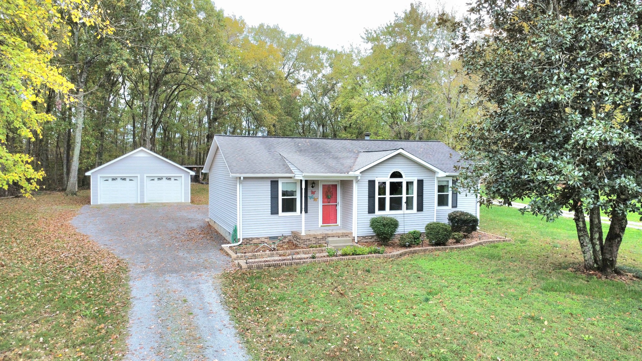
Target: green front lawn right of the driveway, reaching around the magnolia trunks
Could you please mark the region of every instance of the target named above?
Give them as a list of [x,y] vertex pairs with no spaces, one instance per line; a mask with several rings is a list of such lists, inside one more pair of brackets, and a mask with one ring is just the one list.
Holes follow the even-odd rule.
[[[261,360],[640,360],[642,282],[586,277],[573,220],[482,208],[514,242],[223,276]],[[621,263],[642,266],[628,229]]]

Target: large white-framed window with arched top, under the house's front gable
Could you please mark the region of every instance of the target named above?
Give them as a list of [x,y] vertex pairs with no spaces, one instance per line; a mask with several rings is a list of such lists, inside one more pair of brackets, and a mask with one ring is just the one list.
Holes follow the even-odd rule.
[[388,178],[377,178],[376,213],[404,213],[415,211],[417,179],[406,178],[399,170]]

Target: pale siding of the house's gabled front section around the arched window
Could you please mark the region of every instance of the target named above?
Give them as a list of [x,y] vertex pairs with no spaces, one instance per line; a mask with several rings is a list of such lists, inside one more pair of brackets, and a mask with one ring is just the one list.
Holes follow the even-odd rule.
[[[379,216],[368,213],[368,180],[388,178],[390,173],[394,170],[401,170],[406,178],[424,180],[424,211],[385,215],[399,220],[399,229],[397,229],[397,233],[408,233],[408,231],[413,231],[415,229],[423,232],[426,224],[435,220],[435,172],[421,164],[415,163],[404,155],[399,154],[361,172],[361,179],[357,184],[358,236],[369,236],[374,234],[372,233],[372,229],[370,229],[370,218]],[[417,193],[417,188],[414,189],[414,192],[415,194]],[[414,202],[416,205],[417,200],[415,199]]]

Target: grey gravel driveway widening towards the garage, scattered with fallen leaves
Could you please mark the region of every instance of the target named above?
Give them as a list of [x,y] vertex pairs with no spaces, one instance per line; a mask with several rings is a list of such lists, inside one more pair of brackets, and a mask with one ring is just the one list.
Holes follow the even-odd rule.
[[214,275],[227,243],[207,206],[84,206],[72,224],[130,265],[126,360],[248,360]]

